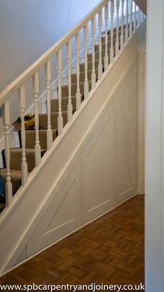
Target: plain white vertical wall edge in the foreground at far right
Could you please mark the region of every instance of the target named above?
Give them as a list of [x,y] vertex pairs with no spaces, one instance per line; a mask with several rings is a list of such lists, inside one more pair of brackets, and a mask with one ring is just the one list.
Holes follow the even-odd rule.
[[164,291],[164,1],[147,5],[145,291]]

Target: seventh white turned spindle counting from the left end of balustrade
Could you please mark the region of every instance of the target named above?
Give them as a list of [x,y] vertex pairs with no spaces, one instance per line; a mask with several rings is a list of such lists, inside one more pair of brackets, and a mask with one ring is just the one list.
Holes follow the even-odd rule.
[[77,79],[77,91],[76,91],[76,110],[81,106],[81,92],[80,92],[80,66],[79,66],[79,51],[80,51],[80,32],[76,33],[76,79]]

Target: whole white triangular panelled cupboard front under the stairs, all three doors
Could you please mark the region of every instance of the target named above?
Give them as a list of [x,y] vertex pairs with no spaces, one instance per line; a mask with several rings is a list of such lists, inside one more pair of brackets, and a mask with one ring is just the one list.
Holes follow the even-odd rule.
[[51,203],[27,244],[27,256],[136,194],[136,92],[135,62],[63,184],[58,191],[52,188]]

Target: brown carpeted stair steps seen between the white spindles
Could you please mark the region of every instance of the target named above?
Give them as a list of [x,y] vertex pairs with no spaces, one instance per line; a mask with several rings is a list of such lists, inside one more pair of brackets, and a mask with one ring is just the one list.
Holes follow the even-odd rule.
[[[124,26],[125,30],[125,26]],[[110,31],[108,31],[109,35]],[[116,30],[113,30],[113,43],[116,41]],[[105,56],[105,37],[102,36],[102,52],[101,52],[101,61],[103,64],[104,70],[104,56]],[[110,41],[108,41],[108,55],[110,55]],[[115,45],[113,47],[115,52]],[[95,74],[96,80],[98,79],[98,65],[99,65],[99,45],[95,45]],[[79,87],[81,92],[81,102],[84,99],[84,81],[85,81],[85,64],[81,63],[80,75],[79,75]],[[92,54],[88,54],[88,84],[89,91],[91,90],[91,78],[92,78]],[[72,100],[72,114],[76,111],[76,74],[71,75],[72,87],[71,87],[71,100]],[[67,124],[67,104],[68,104],[68,86],[61,86],[62,92],[62,116],[63,116],[63,127]],[[41,147],[41,157],[47,151],[47,114],[39,114],[39,139]],[[51,99],[51,129],[53,133],[53,141],[58,135],[58,99]],[[19,132],[20,143],[22,141],[21,131]],[[3,151],[3,161],[5,161],[5,150]],[[21,162],[22,162],[22,148],[10,148],[10,177],[13,183],[13,194],[17,192],[21,183]],[[28,165],[28,175],[35,167],[35,130],[26,130],[26,162]],[[6,181],[6,168],[1,169],[1,176],[3,182]],[[1,210],[4,205],[1,205]]]

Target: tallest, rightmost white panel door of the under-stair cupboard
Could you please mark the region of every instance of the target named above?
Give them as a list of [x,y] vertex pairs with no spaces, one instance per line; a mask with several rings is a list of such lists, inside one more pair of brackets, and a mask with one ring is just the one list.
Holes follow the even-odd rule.
[[136,194],[137,68],[133,66],[115,98],[115,203]]

